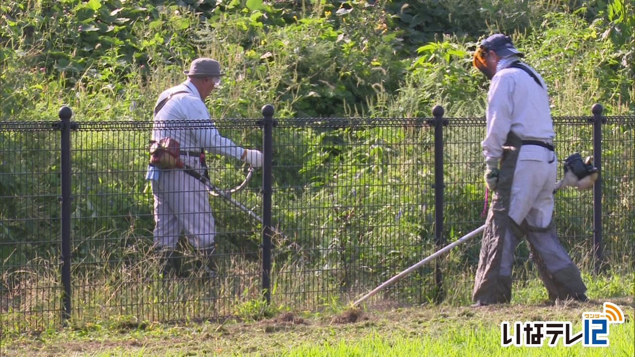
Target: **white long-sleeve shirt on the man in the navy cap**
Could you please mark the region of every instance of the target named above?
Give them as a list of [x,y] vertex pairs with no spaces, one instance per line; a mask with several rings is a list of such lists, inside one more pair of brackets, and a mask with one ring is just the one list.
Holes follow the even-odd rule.
[[481,142],[485,161],[502,156],[510,130],[521,140],[553,142],[547,85],[540,74],[533,72],[542,87],[518,68],[502,69],[492,77],[487,93],[486,136]]

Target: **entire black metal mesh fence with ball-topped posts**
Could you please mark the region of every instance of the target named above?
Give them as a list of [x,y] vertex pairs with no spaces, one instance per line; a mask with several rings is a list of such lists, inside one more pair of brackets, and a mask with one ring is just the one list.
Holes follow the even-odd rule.
[[[268,300],[319,309],[358,297],[483,224],[482,118],[222,120],[264,167],[232,199],[211,198],[217,273],[180,246],[184,273],[161,273],[145,180],[152,123],[0,123],[0,327],[67,319],[180,321],[248,314]],[[563,244],[582,269],[634,267],[635,117],[554,118],[556,151],[594,154],[594,191],[556,194]],[[184,125],[185,128],[185,125]],[[601,153],[601,155],[600,155]],[[271,164],[269,164],[271,163]],[[601,165],[600,165],[601,164]],[[211,183],[246,166],[208,154]],[[185,238],[185,237],[184,237]],[[370,300],[467,302],[478,239]],[[534,274],[519,247],[517,276]]]

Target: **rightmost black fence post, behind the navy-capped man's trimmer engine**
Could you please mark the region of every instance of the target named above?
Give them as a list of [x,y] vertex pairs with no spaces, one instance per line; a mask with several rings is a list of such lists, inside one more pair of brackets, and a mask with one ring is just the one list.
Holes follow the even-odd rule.
[[602,116],[602,105],[596,103],[591,107],[593,118],[593,166],[598,168],[599,177],[593,185],[593,270],[600,273],[602,267],[602,124],[606,118]]

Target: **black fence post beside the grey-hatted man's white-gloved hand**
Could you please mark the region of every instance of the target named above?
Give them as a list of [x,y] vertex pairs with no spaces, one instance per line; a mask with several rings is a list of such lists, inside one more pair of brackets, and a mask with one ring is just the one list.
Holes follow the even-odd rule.
[[272,165],[272,128],[274,106],[265,104],[262,107],[262,291],[267,304],[271,302],[271,165]]

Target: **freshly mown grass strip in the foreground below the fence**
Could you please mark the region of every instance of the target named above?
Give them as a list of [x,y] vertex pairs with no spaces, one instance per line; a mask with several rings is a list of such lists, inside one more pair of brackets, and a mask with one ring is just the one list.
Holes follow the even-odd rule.
[[[584,274],[591,302],[545,303],[536,278],[518,281],[512,304],[474,309],[444,302],[398,306],[375,301],[352,310],[345,300],[319,312],[245,303],[225,321],[140,321],[133,316],[72,320],[66,328],[4,333],[3,356],[632,356],[633,274]],[[471,286],[468,286],[468,288]],[[277,299],[276,295],[273,297]],[[501,321],[572,321],[618,304],[624,325],[611,325],[610,347],[501,347]],[[273,315],[272,315],[273,314]],[[629,354],[629,351],[631,354]]]

